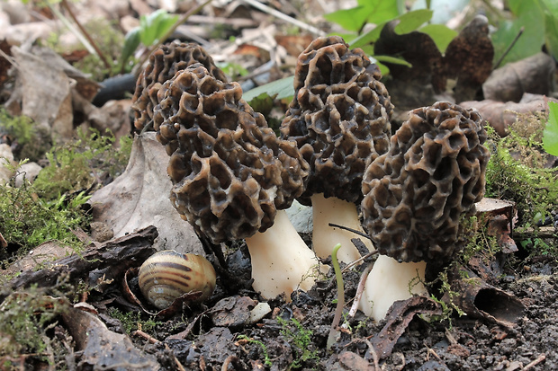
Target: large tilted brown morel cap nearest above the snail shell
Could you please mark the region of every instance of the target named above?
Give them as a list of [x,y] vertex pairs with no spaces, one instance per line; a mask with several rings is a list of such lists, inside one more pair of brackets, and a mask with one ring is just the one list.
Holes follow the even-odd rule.
[[237,83],[197,64],[162,84],[154,110],[170,155],[171,201],[212,243],[266,231],[308,176],[296,144],[279,139],[241,96]]

